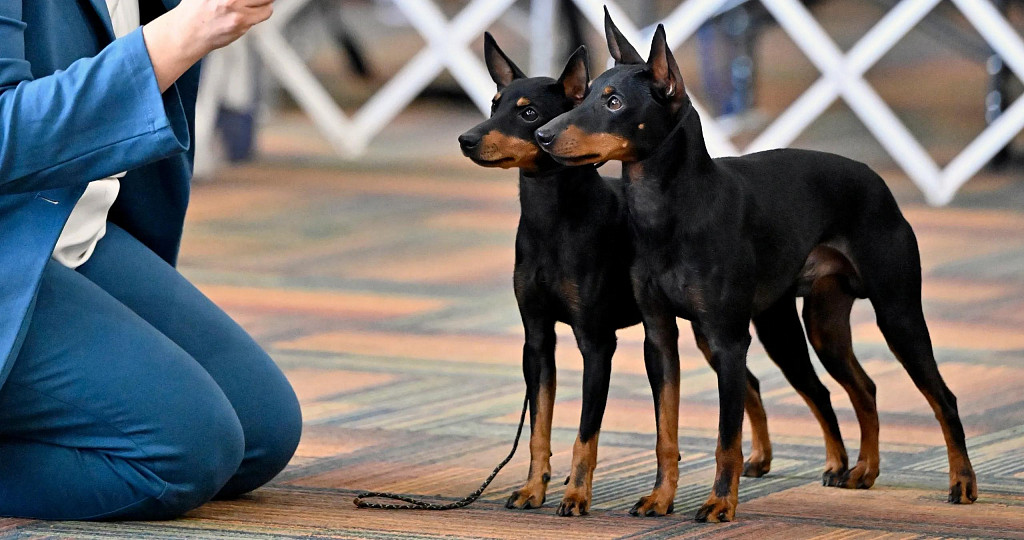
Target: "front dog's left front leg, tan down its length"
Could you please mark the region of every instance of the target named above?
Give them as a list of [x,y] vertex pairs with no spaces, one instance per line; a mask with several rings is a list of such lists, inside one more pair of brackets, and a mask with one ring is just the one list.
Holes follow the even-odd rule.
[[675,509],[679,484],[679,327],[669,311],[645,313],[643,327],[644,366],[657,421],[657,476],[650,495],[641,497],[630,513],[665,515]]

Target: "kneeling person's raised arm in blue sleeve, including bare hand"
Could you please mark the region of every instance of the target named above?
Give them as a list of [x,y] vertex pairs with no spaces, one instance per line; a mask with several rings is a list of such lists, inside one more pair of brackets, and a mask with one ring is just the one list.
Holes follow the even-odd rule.
[[174,81],[269,16],[270,0],[182,0],[96,56],[33,79],[23,0],[0,0],[0,195],[80,184],[188,149]]

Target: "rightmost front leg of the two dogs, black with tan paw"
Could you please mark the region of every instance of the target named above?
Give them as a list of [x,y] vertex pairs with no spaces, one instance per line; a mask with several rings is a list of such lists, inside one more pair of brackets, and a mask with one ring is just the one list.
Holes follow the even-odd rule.
[[718,449],[711,496],[697,510],[698,522],[731,522],[736,515],[739,475],[743,470],[742,426],[746,389],[750,320],[707,328],[708,344],[718,364]]

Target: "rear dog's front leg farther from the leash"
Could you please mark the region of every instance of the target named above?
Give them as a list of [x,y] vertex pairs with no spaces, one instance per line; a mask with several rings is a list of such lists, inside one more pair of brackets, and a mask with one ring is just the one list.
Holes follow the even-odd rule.
[[608,402],[611,357],[615,352],[615,331],[575,329],[583,354],[583,412],[580,432],[572,445],[572,469],[558,515],[585,515],[590,510],[594,469],[597,467],[597,437]]

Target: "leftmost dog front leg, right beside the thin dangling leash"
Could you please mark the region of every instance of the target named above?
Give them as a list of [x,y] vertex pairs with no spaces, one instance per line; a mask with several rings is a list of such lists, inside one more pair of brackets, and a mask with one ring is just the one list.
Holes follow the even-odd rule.
[[540,508],[551,480],[551,415],[555,405],[555,323],[544,317],[523,315],[526,342],[522,347],[522,374],[529,400],[529,474],[526,484],[512,492],[507,508]]

